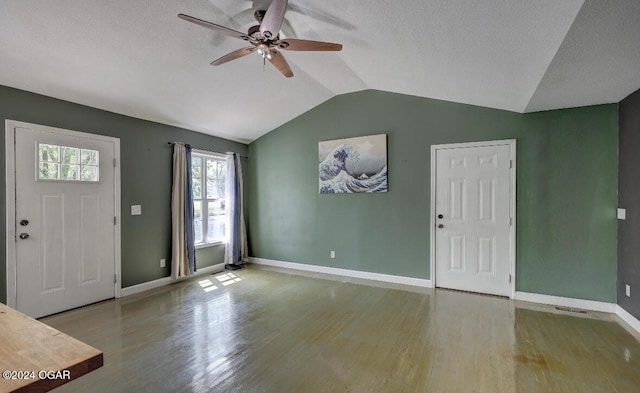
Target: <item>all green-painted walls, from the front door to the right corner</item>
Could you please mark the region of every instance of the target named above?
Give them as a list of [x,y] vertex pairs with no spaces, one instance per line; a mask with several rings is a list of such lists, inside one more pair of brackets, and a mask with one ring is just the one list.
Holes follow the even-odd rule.
[[[123,287],[169,275],[159,267],[170,259],[167,141],[247,154],[239,143],[2,86],[0,118],[120,138]],[[378,133],[388,134],[389,192],[319,195],[318,141]],[[614,302],[616,105],[521,115],[380,91],[335,97],[249,146],[251,254],[429,278],[430,146],[510,138],[518,141],[517,289]],[[0,138],[2,184],[4,151]],[[0,201],[4,238],[4,188]],[[133,204],[142,216],[129,214]],[[222,255],[199,250],[198,264]],[[5,272],[3,258],[3,302]]]

